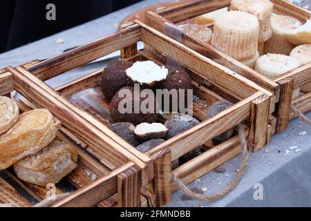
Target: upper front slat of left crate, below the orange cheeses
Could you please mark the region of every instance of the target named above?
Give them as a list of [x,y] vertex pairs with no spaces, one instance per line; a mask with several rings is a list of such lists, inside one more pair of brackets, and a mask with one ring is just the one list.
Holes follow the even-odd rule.
[[88,186],[84,186],[82,189],[78,189],[74,193],[66,196],[66,198],[59,200],[53,204],[52,207],[82,207],[97,205],[117,193],[117,175],[131,168],[131,166],[134,166],[134,164],[129,162],[124,166],[111,171],[108,175],[95,180]]

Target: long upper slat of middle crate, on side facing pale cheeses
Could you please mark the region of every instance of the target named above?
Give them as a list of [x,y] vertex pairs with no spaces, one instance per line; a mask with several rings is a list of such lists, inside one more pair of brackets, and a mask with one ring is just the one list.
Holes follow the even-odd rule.
[[[140,23],[139,21],[137,22]],[[200,77],[207,79],[215,86],[218,86],[218,88],[230,93],[233,97],[244,99],[258,90],[272,96],[272,93],[269,91],[257,86],[245,77],[237,75],[232,70],[211,61],[211,59],[198,54],[198,52],[183,46],[142,23],[140,23],[140,26],[142,26],[142,41],[153,48],[161,50],[168,57],[180,62],[183,66],[194,70]]]

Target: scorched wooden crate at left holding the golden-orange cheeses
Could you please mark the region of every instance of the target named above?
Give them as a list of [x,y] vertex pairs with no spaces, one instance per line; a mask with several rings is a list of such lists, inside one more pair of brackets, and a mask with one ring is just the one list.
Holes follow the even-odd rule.
[[[19,92],[17,85],[23,82],[23,79],[13,77],[4,69],[1,72],[3,74],[0,75],[0,95],[10,96],[13,90]],[[37,92],[33,90],[32,95],[37,95]],[[37,108],[24,97],[17,99],[17,104],[21,112]],[[140,195],[141,171],[133,162],[128,160],[116,169],[109,169],[87,153],[84,150],[86,144],[82,144],[66,128],[62,127],[59,130],[57,138],[72,145],[79,157],[77,168],[62,179],[60,182],[62,184],[56,184],[57,195],[68,191],[70,194],[51,206],[147,206],[147,198]],[[49,189],[19,180],[12,167],[1,172],[3,172],[0,176],[1,204],[33,206],[35,202],[46,199]],[[127,188],[131,191],[124,191]]]

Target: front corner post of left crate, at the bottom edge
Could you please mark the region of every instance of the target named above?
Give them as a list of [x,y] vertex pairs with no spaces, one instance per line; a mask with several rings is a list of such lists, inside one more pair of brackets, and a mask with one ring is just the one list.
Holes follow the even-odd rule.
[[141,171],[138,166],[117,175],[117,206],[140,207]]

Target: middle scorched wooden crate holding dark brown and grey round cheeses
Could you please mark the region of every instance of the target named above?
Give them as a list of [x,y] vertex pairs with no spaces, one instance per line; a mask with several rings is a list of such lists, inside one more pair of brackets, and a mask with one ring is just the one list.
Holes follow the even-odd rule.
[[[138,41],[144,42],[144,45],[149,46],[149,48],[160,50],[162,55],[172,57],[184,66],[193,79],[194,94],[200,98],[199,101],[212,104],[219,100],[229,99],[235,104],[207,120],[204,112],[206,108],[199,101],[196,101],[194,103],[194,116],[201,121],[200,124],[143,154],[113,133],[109,129],[109,125],[103,123],[106,122],[104,115],[99,116],[95,114],[96,111],[90,109],[82,110],[81,106],[68,102],[70,96],[88,88],[98,87],[103,68],[54,89],[44,83],[44,80],[88,64],[117,50],[121,50],[122,59],[132,61],[149,59],[157,63],[163,62],[163,56],[151,57],[150,54],[138,50]],[[171,192],[178,190],[176,184],[171,183],[171,173],[177,175],[185,184],[189,184],[189,182],[241,153],[238,136],[232,137],[218,146],[210,146],[209,141],[216,135],[220,135],[220,133],[247,120],[248,128],[245,132],[247,133],[249,148],[255,151],[264,146],[272,134],[273,127],[268,124],[272,93],[139,21],[128,24],[128,27],[124,27],[120,32],[46,61],[30,64],[26,68],[18,66],[7,69],[12,73],[14,79],[21,78],[27,81],[32,85],[31,88],[39,90],[45,99],[38,99],[37,96],[29,92],[26,84],[17,81],[16,86],[19,93],[30,99],[33,104],[52,111],[55,116],[62,120],[64,128],[82,142],[89,144],[87,150],[106,166],[111,163],[111,160],[106,162],[109,159],[104,157],[106,147],[100,146],[101,142],[95,143],[95,140],[90,140],[89,134],[92,132],[90,128],[96,128],[101,135],[113,140],[114,145],[118,144],[123,148],[123,151],[116,148],[113,151],[120,151],[126,156],[131,153],[133,157],[131,156],[129,159],[142,170],[141,193],[147,198],[149,206],[166,204],[171,200]],[[206,88],[203,83],[210,84],[216,92]],[[109,104],[106,104],[104,100],[102,100],[102,106],[109,108]],[[67,110],[70,110],[70,113]],[[90,128],[87,128],[85,133],[83,133],[84,131],[80,133],[77,131],[77,127],[82,123],[68,119],[70,115],[77,115],[77,118],[80,117],[79,120],[85,119],[88,124],[91,124],[88,125]],[[93,139],[95,138],[99,139],[100,137],[93,137]],[[107,143],[106,140],[104,142]],[[209,147],[207,151],[171,171],[173,160],[203,144]]]

